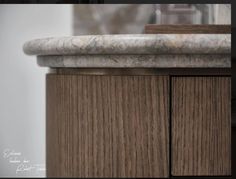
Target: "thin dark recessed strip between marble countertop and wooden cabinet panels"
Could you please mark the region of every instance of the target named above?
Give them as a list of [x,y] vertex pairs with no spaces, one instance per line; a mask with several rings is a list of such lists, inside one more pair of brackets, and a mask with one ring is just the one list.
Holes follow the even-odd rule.
[[231,75],[231,68],[55,68],[50,73],[61,75]]

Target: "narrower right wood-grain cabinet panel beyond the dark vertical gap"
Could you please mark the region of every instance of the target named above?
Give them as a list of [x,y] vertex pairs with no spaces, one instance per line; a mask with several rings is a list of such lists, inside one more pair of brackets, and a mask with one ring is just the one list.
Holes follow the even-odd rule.
[[231,174],[231,78],[173,77],[172,175]]

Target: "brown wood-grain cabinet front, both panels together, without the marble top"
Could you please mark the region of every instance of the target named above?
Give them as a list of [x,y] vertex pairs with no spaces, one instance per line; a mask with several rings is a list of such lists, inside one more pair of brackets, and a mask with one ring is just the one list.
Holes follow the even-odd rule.
[[230,175],[230,90],[227,76],[48,74],[47,176]]

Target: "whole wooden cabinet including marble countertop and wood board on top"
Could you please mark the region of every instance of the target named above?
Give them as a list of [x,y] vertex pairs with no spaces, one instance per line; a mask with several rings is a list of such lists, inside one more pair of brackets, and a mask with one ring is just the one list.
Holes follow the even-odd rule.
[[48,177],[231,175],[231,26],[28,41],[49,67]]

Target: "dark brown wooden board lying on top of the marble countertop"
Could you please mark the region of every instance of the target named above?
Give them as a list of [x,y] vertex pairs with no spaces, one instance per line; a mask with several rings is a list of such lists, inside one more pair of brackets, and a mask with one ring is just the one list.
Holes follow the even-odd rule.
[[147,24],[146,34],[231,34],[231,25],[158,25]]

